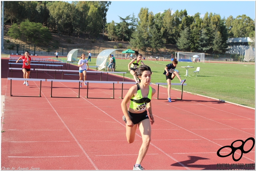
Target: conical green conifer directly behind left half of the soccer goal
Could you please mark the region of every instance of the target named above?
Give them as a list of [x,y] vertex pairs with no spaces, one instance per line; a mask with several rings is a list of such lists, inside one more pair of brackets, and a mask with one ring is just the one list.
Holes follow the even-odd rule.
[[180,37],[177,41],[177,46],[181,51],[189,51],[190,49],[190,34],[189,34],[189,28],[186,27],[183,31],[180,33]]

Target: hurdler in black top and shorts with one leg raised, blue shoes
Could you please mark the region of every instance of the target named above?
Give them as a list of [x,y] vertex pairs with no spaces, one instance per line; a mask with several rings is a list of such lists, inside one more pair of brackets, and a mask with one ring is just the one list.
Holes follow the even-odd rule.
[[173,59],[171,64],[168,64],[165,68],[164,68],[164,73],[166,75],[166,82],[168,85],[167,88],[167,92],[168,92],[168,102],[171,102],[171,96],[170,96],[170,91],[171,91],[171,80],[174,79],[175,76],[177,76],[177,78],[179,79],[181,85],[186,81],[186,80],[181,80],[180,76],[178,74],[177,71],[174,71],[174,69],[176,68],[178,64],[178,60],[177,59]]

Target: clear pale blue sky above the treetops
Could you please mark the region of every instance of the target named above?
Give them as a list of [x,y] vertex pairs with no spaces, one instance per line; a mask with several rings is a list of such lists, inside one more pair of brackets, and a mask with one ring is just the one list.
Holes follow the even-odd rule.
[[155,15],[164,10],[172,10],[172,14],[175,11],[184,11],[186,9],[187,14],[193,16],[199,12],[201,18],[203,18],[206,12],[213,14],[219,14],[223,19],[227,19],[230,15],[236,18],[238,15],[245,14],[251,19],[255,19],[255,1],[111,1],[107,12],[107,22],[119,23],[121,18],[134,13],[138,18],[138,13],[141,8],[148,8],[149,12],[153,12]]

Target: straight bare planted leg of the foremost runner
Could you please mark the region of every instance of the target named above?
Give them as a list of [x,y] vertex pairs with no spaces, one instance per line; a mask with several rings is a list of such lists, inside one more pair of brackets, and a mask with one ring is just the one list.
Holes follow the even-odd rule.
[[144,159],[151,141],[150,120],[149,119],[142,120],[141,122],[138,123],[138,126],[142,136],[142,145],[139,150],[139,155],[136,160],[136,164],[140,164]]

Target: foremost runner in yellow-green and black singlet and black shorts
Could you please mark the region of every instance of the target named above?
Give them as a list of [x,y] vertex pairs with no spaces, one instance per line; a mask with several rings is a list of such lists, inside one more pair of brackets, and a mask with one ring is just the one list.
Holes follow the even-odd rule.
[[[123,120],[126,122],[126,138],[128,143],[134,142],[137,125],[142,136],[142,145],[133,170],[144,170],[140,164],[148,151],[151,140],[151,125],[154,123],[151,98],[156,92],[155,89],[149,86],[151,74],[149,66],[142,65],[137,68],[135,75],[139,78],[139,84],[129,89],[121,103],[124,113]],[[127,110],[127,103],[129,101],[130,106]],[[149,117],[146,108],[148,109]]]

